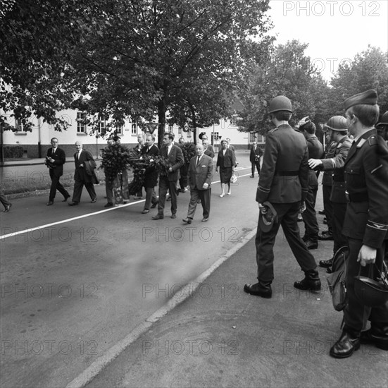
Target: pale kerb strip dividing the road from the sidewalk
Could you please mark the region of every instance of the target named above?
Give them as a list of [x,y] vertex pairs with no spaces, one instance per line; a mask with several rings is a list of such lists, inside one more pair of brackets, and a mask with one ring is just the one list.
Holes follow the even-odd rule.
[[177,305],[180,305],[180,303],[192,296],[192,293],[194,293],[194,291],[215,271],[215,269],[220,267],[220,265],[222,265],[223,262],[229,259],[229,257],[234,255],[234,253],[237,253],[237,251],[241,249],[246,243],[248,243],[255,235],[256,230],[250,231],[248,234],[246,234],[246,236],[242,238],[242,241],[234,245],[233,248],[228,250],[225,255],[221,256],[213,265],[211,265],[211,267],[206,269],[206,271],[202,272],[199,277],[196,277],[194,281],[186,284],[183,289],[177,291],[177,293],[175,293],[175,295],[170,299],[170,301],[168,301],[168,303],[156,310],[154,314],[146,318],[144,322],[135,327],[135,329],[133,329],[132,332],[130,332],[130,334],[128,334],[124,339],[109,348],[108,351],[104,354],[104,356],[101,356],[94,360],[92,365],[89,365],[89,367],[86,368],[80,375],[75,377],[73,381],[69,382],[69,384],[66,385],[65,388],[85,387],[85,385],[91,382],[94,377],[99,375],[99,373],[104,368],[106,368],[109,363],[111,363],[115,358],[117,358],[120,353],[125,351],[128,346],[137,341],[137,339],[139,339],[142,334],[147,332],[150,327],[154,325],[155,322],[161,320],[161,318],[164,317],[166,314],[170,313],[173,308],[177,307]]

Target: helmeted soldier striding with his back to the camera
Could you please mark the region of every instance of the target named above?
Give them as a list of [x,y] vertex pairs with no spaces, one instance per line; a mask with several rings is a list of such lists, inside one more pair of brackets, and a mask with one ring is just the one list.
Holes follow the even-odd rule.
[[313,255],[299,234],[297,217],[304,210],[308,190],[308,149],[303,135],[289,126],[292,116],[291,101],[285,96],[275,97],[269,105],[271,121],[276,128],[269,131],[265,141],[256,201],[261,212],[264,202],[270,202],[277,213],[269,231],[263,231],[260,222],[256,234],[256,262],[258,283],[245,284],[244,291],[263,298],[271,298],[273,273],[273,245],[282,225],[284,236],[296,257],[305,277],[295,281],[301,290],[320,290],[320,279]]

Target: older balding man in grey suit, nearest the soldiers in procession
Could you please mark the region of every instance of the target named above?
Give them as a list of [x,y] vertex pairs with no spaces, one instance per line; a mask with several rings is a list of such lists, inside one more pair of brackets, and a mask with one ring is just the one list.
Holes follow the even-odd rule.
[[196,145],[196,157],[190,159],[189,164],[189,183],[190,183],[190,202],[187,218],[183,219],[186,224],[191,224],[194,218],[196,204],[201,200],[204,210],[202,222],[209,219],[210,199],[211,199],[211,179],[213,177],[213,160],[204,154],[204,146]]

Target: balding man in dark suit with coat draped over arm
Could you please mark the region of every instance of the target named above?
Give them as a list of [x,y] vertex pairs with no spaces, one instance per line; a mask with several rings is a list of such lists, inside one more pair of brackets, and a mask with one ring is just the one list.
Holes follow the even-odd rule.
[[82,188],[84,185],[90,195],[90,198],[92,199],[92,203],[96,202],[97,195],[93,184],[99,183],[94,172],[96,162],[94,162],[92,154],[89,151],[82,150],[82,143],[80,141],[75,143],[75,148],[77,149],[77,152],[74,154],[75,183],[73,200],[69,203],[69,206],[78,205],[81,200]]

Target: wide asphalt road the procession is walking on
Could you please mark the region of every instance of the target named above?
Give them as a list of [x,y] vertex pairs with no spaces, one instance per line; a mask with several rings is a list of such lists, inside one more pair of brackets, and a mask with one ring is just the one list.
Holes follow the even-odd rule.
[[1,214],[1,386],[65,386],[255,229],[248,153],[239,166],[232,195],[213,184],[206,223],[201,205],[182,223],[188,192],[177,219],[159,221],[141,214],[143,201],[104,210],[104,186],[77,207],[13,200]]

